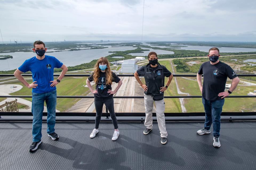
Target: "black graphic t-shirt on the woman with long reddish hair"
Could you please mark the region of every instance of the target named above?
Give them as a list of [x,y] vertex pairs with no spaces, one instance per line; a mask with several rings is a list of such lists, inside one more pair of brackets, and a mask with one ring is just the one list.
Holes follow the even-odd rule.
[[[115,73],[112,72],[112,82],[118,83],[120,81],[120,78],[117,77]],[[88,80],[90,82],[93,81],[93,73],[88,77]],[[111,84],[106,84],[106,72],[100,71],[99,78],[98,78],[98,84],[96,84],[96,90],[98,90],[97,94],[94,94],[94,97],[99,98],[106,98],[106,97],[113,97],[113,94],[107,93],[108,90],[112,90]]]

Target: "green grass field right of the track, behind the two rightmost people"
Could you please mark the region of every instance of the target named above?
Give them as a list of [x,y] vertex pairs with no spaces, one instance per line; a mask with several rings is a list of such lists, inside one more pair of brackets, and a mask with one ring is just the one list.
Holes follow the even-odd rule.
[[[168,70],[171,69],[171,61],[160,61],[159,63],[165,65]],[[175,67],[174,67],[175,70]],[[176,73],[180,74],[180,73]],[[188,79],[177,77],[179,88],[182,92],[189,93],[191,96],[201,96],[201,92],[196,81],[196,77],[187,77]],[[167,79],[167,78],[166,78]],[[194,80],[193,80],[194,79]],[[254,81],[241,79],[243,81],[252,82]],[[167,80],[165,80],[167,82]],[[231,83],[231,80],[227,80],[227,83]],[[242,83],[239,83],[242,85]],[[247,95],[250,91],[256,90],[256,86],[238,86],[231,95]],[[174,79],[168,87],[165,95],[178,96],[177,87]],[[170,102],[172,100],[172,102]],[[165,112],[181,112],[179,99],[165,99],[166,109]],[[204,112],[201,98],[190,98],[184,99],[185,108],[187,112]],[[173,106],[176,106],[174,109]],[[226,98],[223,106],[223,112],[252,112],[256,111],[256,98]]]

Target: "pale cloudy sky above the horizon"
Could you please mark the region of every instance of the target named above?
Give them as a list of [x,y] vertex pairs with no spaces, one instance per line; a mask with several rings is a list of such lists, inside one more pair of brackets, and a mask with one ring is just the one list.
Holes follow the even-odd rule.
[[[255,0],[145,0],[143,40],[256,41]],[[141,40],[143,0],[0,0],[4,41]]]

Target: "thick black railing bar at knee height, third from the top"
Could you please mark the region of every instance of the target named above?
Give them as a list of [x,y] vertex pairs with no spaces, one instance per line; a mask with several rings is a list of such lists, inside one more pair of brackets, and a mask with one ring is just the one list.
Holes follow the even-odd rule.
[[[156,116],[156,113],[152,113]],[[31,112],[0,112],[1,116],[33,116]],[[57,112],[56,116],[95,116],[96,113],[85,113],[85,112]],[[116,116],[145,116],[143,113],[124,112],[115,113]],[[43,112],[43,116],[47,116],[47,112]],[[109,113],[102,113],[102,116],[109,116]],[[189,112],[189,113],[165,113],[165,116],[205,116],[205,112]],[[222,112],[221,116],[256,116],[256,112]]]

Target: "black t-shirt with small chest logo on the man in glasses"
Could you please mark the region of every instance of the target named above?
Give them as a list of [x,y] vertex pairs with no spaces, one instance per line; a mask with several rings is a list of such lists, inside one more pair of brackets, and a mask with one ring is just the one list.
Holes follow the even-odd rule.
[[237,77],[234,70],[221,61],[214,65],[210,61],[204,62],[198,74],[203,74],[202,97],[211,101],[221,100],[223,96],[219,97],[218,94],[225,91],[227,77],[230,79]]

